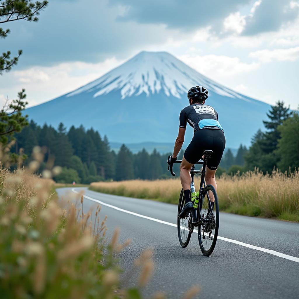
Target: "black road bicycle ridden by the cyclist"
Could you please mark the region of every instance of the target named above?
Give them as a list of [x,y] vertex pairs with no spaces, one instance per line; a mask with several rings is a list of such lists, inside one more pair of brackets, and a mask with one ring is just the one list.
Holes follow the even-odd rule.
[[[205,169],[208,158],[211,157],[213,151],[206,150],[203,153],[202,161],[199,160],[196,164],[202,164],[201,170],[195,170],[195,165],[190,170],[191,182],[194,183],[194,176],[200,175],[199,185],[199,196],[196,196],[196,202],[198,204],[196,208],[192,208],[188,213],[188,216],[181,219],[179,214],[185,204],[185,196],[183,189],[179,197],[178,207],[178,235],[179,241],[183,248],[187,247],[190,242],[191,234],[193,233],[194,227],[197,227],[197,235],[200,250],[202,254],[209,256],[216,245],[219,229],[219,204],[218,196],[215,188],[212,185],[205,184]],[[169,156],[170,157],[170,156]],[[168,157],[168,161],[170,161]],[[175,163],[181,163],[182,160],[177,160]],[[173,172],[173,164],[169,164],[170,173],[173,176],[176,174]],[[211,200],[215,201],[212,209]]]

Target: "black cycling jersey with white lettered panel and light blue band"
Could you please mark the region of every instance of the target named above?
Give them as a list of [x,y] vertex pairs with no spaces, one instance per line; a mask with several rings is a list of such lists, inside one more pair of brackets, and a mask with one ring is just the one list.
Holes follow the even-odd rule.
[[185,107],[180,113],[180,128],[186,128],[187,122],[194,132],[200,129],[222,129],[218,121],[218,113],[208,105],[199,103]]

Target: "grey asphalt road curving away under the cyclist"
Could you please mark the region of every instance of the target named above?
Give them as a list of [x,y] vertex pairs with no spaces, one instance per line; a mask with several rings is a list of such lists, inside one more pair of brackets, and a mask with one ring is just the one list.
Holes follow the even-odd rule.
[[194,284],[201,287],[196,298],[299,298],[299,224],[220,213],[221,239],[211,256],[205,257],[197,233],[192,234],[187,248],[181,248],[176,205],[86,188],[57,192],[68,198],[67,192],[82,189],[84,211],[96,207],[97,201],[102,203],[101,215],[108,216],[107,237],[118,227],[120,242],[132,239],[120,254],[121,265],[129,273],[124,275],[126,284],[137,281],[134,260],[144,249],[154,250],[155,269],[144,289],[145,298],[156,291],[165,292],[168,298],[182,298]]

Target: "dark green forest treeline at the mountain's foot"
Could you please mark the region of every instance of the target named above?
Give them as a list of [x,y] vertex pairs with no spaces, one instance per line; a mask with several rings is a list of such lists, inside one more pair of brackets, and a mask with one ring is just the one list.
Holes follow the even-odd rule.
[[[226,150],[217,174],[254,170],[258,167],[264,173],[271,173],[274,167],[294,170],[299,165],[299,117],[290,112],[283,102],[277,102],[264,121],[266,132],[259,130],[247,149],[240,145],[236,156]],[[54,165],[62,167],[62,172],[54,179],[62,183],[90,183],[102,180],[160,179],[171,177],[167,171],[167,156],[154,150],[145,149],[134,154],[124,144],[119,151],[110,149],[107,136],[101,137],[94,129],[71,126],[67,131],[63,123],[58,128],[45,124],[37,125],[33,120],[22,132],[15,134],[16,144],[12,152],[24,149],[30,162],[33,147],[39,145],[45,150],[45,160],[54,160]],[[182,158],[183,151],[179,158]],[[42,164],[42,172],[46,164]],[[174,171],[179,173],[179,165]]]

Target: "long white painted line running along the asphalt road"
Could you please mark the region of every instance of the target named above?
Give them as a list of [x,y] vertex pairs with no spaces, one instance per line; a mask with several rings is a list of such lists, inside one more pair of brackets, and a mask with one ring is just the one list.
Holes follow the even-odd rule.
[[[72,191],[74,193],[81,194],[81,193],[77,192],[74,188],[72,188]],[[131,215],[134,215],[134,216],[137,216],[137,217],[140,217],[140,218],[144,218],[144,219],[152,220],[152,221],[159,222],[159,223],[162,223],[162,224],[166,224],[166,225],[170,225],[170,226],[173,226],[173,227],[177,227],[177,225],[174,224],[174,223],[170,223],[170,222],[163,221],[163,220],[160,220],[160,219],[156,219],[156,218],[152,218],[152,217],[149,217],[149,216],[141,215],[141,214],[138,214],[138,213],[135,213],[135,212],[131,212],[131,211],[128,211],[128,210],[124,210],[124,209],[118,208],[118,207],[116,207],[114,205],[109,205],[109,204],[107,204],[105,202],[101,202],[98,199],[94,199],[94,198],[86,196],[86,195],[83,195],[83,197],[86,198],[86,199],[89,199],[89,200],[91,200],[93,202],[97,202],[97,203],[99,203],[101,205],[104,205],[106,207],[118,210],[120,212],[124,212],[124,213],[131,214]],[[197,233],[196,229],[194,231]],[[299,257],[293,257],[292,255],[284,254],[284,253],[281,253],[281,252],[278,252],[278,251],[274,251],[274,250],[271,250],[271,249],[267,249],[267,248],[263,248],[263,247],[254,246],[254,245],[251,245],[251,244],[247,244],[247,243],[240,242],[240,241],[233,240],[233,239],[228,239],[228,238],[225,238],[225,237],[218,236],[218,239],[226,241],[226,242],[231,242],[231,243],[234,243],[234,244],[237,244],[237,245],[241,245],[241,246],[244,246],[244,247],[248,247],[248,248],[251,248],[251,249],[255,249],[255,250],[258,250],[258,251],[263,251],[263,252],[266,252],[266,253],[269,253],[269,254],[276,255],[277,257],[282,257],[284,259],[291,260],[293,262],[299,263]]]

